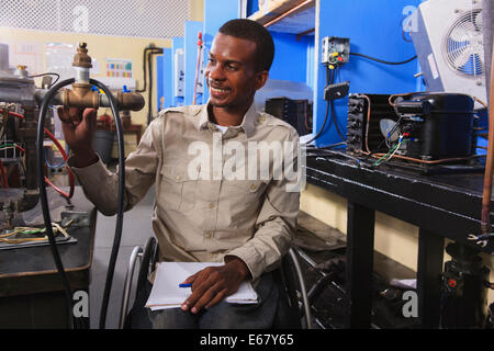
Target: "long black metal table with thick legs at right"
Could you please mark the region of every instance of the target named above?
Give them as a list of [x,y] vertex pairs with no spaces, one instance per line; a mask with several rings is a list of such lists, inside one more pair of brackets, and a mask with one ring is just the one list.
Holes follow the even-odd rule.
[[[345,152],[345,151],[344,151]],[[347,294],[348,328],[369,328],[374,213],[411,223],[418,230],[417,295],[422,328],[437,328],[445,238],[492,252],[468,240],[480,234],[483,173],[423,176],[420,173],[337,154],[307,156],[307,183],[348,200]],[[494,204],[492,204],[491,208]]]

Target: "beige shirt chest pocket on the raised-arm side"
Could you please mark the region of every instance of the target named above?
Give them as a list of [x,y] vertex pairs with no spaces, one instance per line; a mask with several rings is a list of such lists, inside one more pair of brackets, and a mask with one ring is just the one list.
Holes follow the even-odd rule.
[[187,166],[165,163],[161,167],[160,199],[166,210],[189,212],[195,204],[197,179],[189,177]]

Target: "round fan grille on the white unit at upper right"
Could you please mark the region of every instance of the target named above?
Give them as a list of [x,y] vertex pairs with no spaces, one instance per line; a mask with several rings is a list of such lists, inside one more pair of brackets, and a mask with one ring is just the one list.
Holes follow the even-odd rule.
[[470,78],[484,73],[482,9],[467,11],[458,18],[445,36],[442,50],[454,72]]

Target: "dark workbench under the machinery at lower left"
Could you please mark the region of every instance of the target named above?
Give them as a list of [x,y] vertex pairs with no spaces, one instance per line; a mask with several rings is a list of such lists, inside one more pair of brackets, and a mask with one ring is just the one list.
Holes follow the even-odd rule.
[[[89,296],[97,212],[80,188],[72,197],[75,215],[87,226],[69,227],[75,244],[57,245],[72,292]],[[89,318],[82,319],[89,327]],[[49,246],[0,251],[0,328],[68,328],[64,287]]]

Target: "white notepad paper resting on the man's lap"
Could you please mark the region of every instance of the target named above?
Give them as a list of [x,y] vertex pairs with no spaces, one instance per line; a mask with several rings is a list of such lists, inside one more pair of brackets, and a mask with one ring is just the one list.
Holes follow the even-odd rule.
[[[190,287],[179,287],[188,276],[221,262],[159,262],[156,265],[155,282],[146,303],[151,310],[180,307],[191,295]],[[235,294],[226,297],[233,304],[256,304],[257,293],[249,282],[242,282]]]

